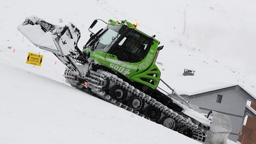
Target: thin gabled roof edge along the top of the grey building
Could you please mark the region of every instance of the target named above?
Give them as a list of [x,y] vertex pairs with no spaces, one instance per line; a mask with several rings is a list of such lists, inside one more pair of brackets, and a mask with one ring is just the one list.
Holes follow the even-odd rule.
[[252,93],[248,92],[245,88],[239,86],[239,85],[236,85],[236,84],[233,84],[233,85],[227,85],[227,86],[220,86],[220,87],[215,87],[215,88],[211,88],[211,89],[207,89],[207,90],[201,90],[201,91],[198,91],[198,92],[193,92],[193,93],[190,93],[190,94],[186,94],[188,96],[204,96],[206,94],[209,94],[209,93],[214,93],[216,91],[223,91],[223,90],[232,90],[232,89],[238,89],[240,92],[243,93],[243,95],[248,98],[249,100],[251,101],[254,101],[256,100],[256,96],[254,96]]

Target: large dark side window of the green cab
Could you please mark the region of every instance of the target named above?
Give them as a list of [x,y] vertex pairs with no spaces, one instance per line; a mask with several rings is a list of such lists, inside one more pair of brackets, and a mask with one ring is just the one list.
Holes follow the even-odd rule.
[[122,53],[117,54],[118,59],[130,63],[136,63],[147,55],[151,47],[150,39],[141,33],[130,31],[119,43],[119,50]]

